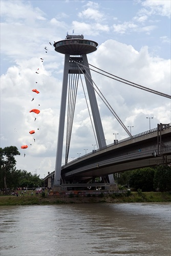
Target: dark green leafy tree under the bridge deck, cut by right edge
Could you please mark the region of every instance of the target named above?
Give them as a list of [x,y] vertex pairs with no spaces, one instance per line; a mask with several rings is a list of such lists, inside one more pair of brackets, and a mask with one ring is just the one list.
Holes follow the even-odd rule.
[[171,167],[169,165],[160,165],[156,168],[154,187],[161,192],[171,191]]

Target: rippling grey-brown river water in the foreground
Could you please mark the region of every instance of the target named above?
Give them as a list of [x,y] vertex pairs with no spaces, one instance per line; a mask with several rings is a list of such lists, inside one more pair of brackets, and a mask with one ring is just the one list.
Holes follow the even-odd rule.
[[169,203],[1,207],[1,256],[170,256]]

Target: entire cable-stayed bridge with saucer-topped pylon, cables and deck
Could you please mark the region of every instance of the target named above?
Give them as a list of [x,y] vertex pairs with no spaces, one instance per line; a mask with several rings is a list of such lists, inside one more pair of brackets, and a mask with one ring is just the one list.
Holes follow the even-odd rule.
[[[91,77],[92,68],[96,68],[89,64],[87,54],[97,50],[97,42],[84,39],[83,35],[68,35],[65,40],[54,42],[55,51],[65,54],[65,62],[63,69],[63,84],[61,93],[61,105],[59,116],[58,141],[56,151],[55,172],[47,177],[51,182],[50,187],[53,190],[67,189],[68,187],[83,187],[91,181],[91,186],[97,186],[96,177],[100,177],[101,185],[115,185],[114,173],[123,172],[124,170],[140,168],[144,166],[156,165],[159,163],[170,162],[170,124],[158,124],[154,130],[132,136],[131,132],[121,121],[119,116],[113,110],[110,103],[104,98],[95,82]],[[90,66],[92,68],[90,68]],[[98,71],[97,71],[98,70]],[[95,71],[95,70],[94,70]],[[96,68],[97,73],[101,74],[100,69]],[[102,71],[106,77],[125,83],[129,86],[154,93],[162,97],[171,99],[170,95],[158,92],[153,89],[146,88],[140,84],[122,79],[108,72]],[[81,78],[82,76],[82,78]],[[86,154],[83,157],[68,162],[72,127],[74,120],[75,102],[78,84],[83,88],[83,81],[86,83],[87,94],[89,97],[91,113],[89,112],[93,131],[96,139],[98,150]],[[86,98],[85,91],[83,89]],[[99,108],[97,104],[96,94],[106,104],[116,120],[120,123],[125,132],[129,135],[122,141],[115,140],[115,143],[106,145],[103,132],[102,122],[100,118]],[[68,98],[68,102],[67,102]],[[86,99],[86,102],[87,99]],[[67,118],[66,118],[66,105]],[[65,126],[65,121],[67,125]],[[150,121],[150,119],[149,119]],[[61,166],[62,148],[64,130],[66,131],[66,159],[65,165]],[[50,178],[50,181],[49,181]],[[93,185],[94,184],[94,185]],[[48,184],[49,186],[49,184]]]

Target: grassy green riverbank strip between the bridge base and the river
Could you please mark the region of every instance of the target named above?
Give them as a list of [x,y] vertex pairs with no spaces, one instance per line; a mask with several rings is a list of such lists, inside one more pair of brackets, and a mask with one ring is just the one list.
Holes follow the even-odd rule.
[[69,204],[69,203],[139,203],[139,202],[171,202],[171,193],[168,192],[133,192],[130,196],[124,193],[114,193],[105,195],[87,196],[0,196],[0,206],[7,205],[51,205],[51,204]]

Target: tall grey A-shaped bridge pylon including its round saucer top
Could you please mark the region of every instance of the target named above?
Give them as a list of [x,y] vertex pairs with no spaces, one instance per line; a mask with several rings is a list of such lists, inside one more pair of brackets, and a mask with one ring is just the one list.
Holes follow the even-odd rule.
[[[59,189],[61,184],[61,162],[66,119],[67,93],[68,88],[70,87],[70,81],[74,79],[70,79],[70,76],[74,77],[77,75],[77,77],[80,77],[81,75],[84,75],[99,148],[106,146],[106,142],[87,58],[87,54],[97,50],[97,42],[84,39],[83,35],[67,34],[65,40],[57,41],[53,46],[55,47],[56,52],[65,54],[53,186],[53,189],[56,190],[56,188]],[[81,65],[79,65],[79,63]],[[115,183],[113,175],[109,175],[108,178],[110,184]]]

